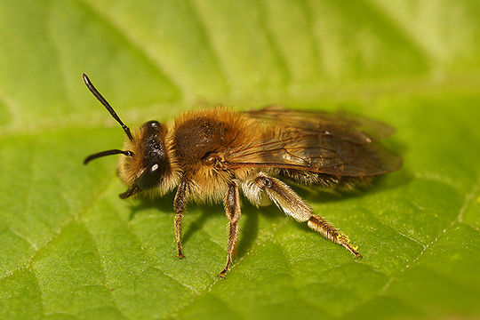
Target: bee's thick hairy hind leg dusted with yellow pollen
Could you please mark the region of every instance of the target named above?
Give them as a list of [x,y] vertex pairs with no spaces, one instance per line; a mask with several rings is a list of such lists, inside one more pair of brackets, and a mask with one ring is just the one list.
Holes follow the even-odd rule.
[[268,197],[286,214],[292,216],[299,222],[307,221],[309,228],[312,228],[334,243],[342,245],[355,255],[355,258],[362,257],[360,253],[356,251],[356,247],[350,243],[348,236],[345,236],[339,230],[333,228],[332,225],[322,217],[313,214],[312,208],[284,182],[260,173],[260,175],[255,178],[255,183],[260,189],[265,190]]

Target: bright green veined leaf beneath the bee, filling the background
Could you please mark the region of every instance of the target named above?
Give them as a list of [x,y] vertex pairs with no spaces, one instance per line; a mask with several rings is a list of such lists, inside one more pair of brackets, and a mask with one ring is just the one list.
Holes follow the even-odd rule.
[[[476,1],[0,3],[0,318],[480,317]],[[396,127],[404,166],[350,196],[299,189],[353,260],[275,207],[244,204],[234,267],[220,204],[123,201],[124,133],[223,103],[343,108]]]

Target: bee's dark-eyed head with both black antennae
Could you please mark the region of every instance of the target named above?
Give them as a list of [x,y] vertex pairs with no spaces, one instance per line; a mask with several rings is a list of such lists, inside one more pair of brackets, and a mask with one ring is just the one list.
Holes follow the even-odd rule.
[[124,155],[120,158],[119,175],[128,185],[128,189],[120,194],[123,199],[138,194],[140,191],[161,186],[164,178],[171,172],[171,165],[165,148],[166,127],[155,120],[148,121],[140,127],[138,132],[132,135],[130,129],[116,115],[107,100],[95,89],[88,76],[85,74],[82,76],[88,89],[107,108],[110,115],[122,126],[128,137],[124,150],[112,149],[87,156],[84,159],[84,164],[88,164],[101,156]]

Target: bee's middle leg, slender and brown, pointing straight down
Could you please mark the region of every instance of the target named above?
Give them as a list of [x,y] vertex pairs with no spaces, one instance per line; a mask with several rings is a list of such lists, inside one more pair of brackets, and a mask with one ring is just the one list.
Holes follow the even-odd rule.
[[223,200],[223,205],[228,218],[228,253],[227,264],[223,271],[220,272],[220,277],[224,277],[228,272],[228,268],[230,268],[238,241],[238,220],[242,216],[240,211],[240,194],[238,192],[238,184],[235,181],[228,186],[228,193]]

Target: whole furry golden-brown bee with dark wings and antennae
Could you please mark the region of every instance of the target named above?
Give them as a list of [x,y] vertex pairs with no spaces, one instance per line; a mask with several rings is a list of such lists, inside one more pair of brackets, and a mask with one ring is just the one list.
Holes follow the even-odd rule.
[[173,201],[178,258],[181,222],[188,201],[223,203],[228,219],[227,274],[238,240],[240,194],[259,207],[273,202],[299,222],[361,258],[348,236],[316,215],[284,180],[319,188],[353,188],[396,171],[402,160],[380,140],[393,133],[386,124],[346,113],[310,112],[269,106],[234,112],[210,108],[183,113],[172,122],[151,120],[135,132],[116,115],[83,75],[84,83],[127,136],[124,148],[93,154],[122,155],[118,175],[131,196],[163,196]]

